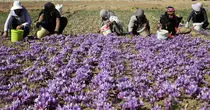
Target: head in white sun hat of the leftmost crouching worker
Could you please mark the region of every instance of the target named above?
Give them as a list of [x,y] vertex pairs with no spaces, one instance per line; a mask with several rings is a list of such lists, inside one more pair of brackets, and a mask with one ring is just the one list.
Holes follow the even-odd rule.
[[21,5],[20,1],[16,0],[13,2],[13,6],[11,10],[13,10],[17,16],[21,15],[22,9],[23,9],[23,6]]

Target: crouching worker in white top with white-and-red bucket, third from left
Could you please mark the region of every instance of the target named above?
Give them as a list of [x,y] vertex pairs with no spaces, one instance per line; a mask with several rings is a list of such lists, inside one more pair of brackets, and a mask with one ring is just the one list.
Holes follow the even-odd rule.
[[100,17],[101,17],[100,32],[102,32],[104,35],[107,35],[109,33],[116,33],[117,35],[123,35],[123,27],[120,23],[119,18],[115,15],[114,12],[102,9],[100,11]]

